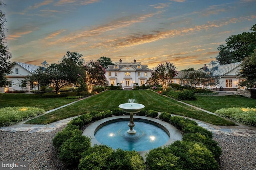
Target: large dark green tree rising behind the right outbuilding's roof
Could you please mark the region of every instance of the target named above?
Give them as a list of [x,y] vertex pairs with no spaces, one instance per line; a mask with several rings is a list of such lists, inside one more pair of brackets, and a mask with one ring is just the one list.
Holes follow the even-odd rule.
[[249,32],[232,35],[225,41],[226,45],[218,47],[219,54],[216,59],[219,63],[222,65],[242,61],[245,57],[250,56],[256,48],[256,24],[251,27]]

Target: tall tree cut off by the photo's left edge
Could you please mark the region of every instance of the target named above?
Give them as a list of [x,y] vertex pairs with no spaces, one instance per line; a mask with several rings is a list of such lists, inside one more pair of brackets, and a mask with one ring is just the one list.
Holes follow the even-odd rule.
[[[5,4],[0,0],[0,7],[5,6]],[[13,64],[9,61],[12,57],[11,53],[8,51],[8,47],[5,45],[7,39],[5,36],[6,18],[5,14],[0,10],[0,87],[8,84],[6,74],[11,72]]]

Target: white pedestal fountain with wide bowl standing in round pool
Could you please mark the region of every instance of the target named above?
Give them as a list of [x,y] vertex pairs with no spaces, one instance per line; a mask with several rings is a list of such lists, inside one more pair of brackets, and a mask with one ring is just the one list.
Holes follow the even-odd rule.
[[134,103],[135,99],[129,99],[128,103],[120,104],[118,107],[121,108],[124,112],[130,113],[130,121],[128,126],[130,129],[127,131],[129,134],[134,134],[136,131],[133,129],[135,126],[133,121],[133,114],[138,113],[143,109],[145,106],[143,104]]

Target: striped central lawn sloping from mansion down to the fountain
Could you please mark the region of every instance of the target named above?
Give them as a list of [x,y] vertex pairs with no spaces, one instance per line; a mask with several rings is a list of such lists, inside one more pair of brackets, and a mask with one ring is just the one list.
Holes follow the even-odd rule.
[[145,109],[152,109],[159,112],[168,112],[176,115],[191,117],[197,120],[208,122],[214,125],[234,125],[216,115],[196,110],[157,94],[151,90],[121,91],[110,90],[86,98],[70,106],[58,109],[46,115],[30,120],[32,124],[48,124],[68,117],[81,115],[90,111],[104,111],[118,108],[120,104],[127,103],[128,99],[135,99],[136,103],[144,104]]

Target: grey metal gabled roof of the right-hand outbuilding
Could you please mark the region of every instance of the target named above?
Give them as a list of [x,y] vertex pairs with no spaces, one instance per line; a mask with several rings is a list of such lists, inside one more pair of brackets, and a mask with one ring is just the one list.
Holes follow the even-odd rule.
[[213,72],[212,75],[213,76],[223,76],[223,75],[227,74],[228,72],[237,68],[241,63],[242,63],[242,61],[215,66],[211,69],[211,72]]

